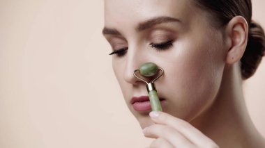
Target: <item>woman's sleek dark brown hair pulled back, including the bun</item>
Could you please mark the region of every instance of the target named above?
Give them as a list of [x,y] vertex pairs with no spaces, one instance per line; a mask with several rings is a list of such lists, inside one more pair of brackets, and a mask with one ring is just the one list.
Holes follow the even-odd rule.
[[252,21],[251,0],[194,0],[199,8],[209,12],[214,26],[225,26],[233,17],[241,15],[249,26],[248,45],[241,58],[242,79],[252,76],[265,54],[265,35],[262,26]]

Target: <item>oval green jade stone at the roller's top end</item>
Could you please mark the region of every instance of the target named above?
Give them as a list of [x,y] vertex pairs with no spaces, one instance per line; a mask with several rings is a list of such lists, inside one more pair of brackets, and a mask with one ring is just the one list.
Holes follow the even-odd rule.
[[142,76],[154,76],[158,72],[158,66],[155,63],[144,63],[139,70]]

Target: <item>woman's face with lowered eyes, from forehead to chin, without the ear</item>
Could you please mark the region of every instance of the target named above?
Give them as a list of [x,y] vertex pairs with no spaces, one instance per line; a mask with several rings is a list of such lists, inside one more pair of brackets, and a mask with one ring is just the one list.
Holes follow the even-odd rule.
[[225,66],[222,32],[188,0],[107,0],[103,34],[111,44],[112,65],[128,108],[144,128],[150,108],[131,104],[148,96],[133,76],[146,62],[164,75],[156,81],[162,110],[188,122],[215,101]]

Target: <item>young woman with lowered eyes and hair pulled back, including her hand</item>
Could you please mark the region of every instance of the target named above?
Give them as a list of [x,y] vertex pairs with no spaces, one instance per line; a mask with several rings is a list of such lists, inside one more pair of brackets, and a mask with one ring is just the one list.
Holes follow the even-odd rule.
[[[250,0],[107,0],[103,34],[150,147],[265,147],[242,92],[265,49]],[[151,112],[146,84],[133,76],[146,62],[164,69],[163,112]]]

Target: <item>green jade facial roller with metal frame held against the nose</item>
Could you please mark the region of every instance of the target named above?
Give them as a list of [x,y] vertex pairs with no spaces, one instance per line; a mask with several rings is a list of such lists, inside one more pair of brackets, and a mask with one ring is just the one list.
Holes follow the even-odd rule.
[[[137,76],[137,73],[145,77],[155,76],[156,74],[158,74],[159,70],[160,74],[155,79],[149,82],[143,79],[142,77]],[[162,111],[162,107],[158,98],[158,92],[156,91],[156,85],[154,83],[158,78],[160,78],[160,76],[162,76],[162,74],[163,74],[163,69],[158,68],[158,66],[155,63],[144,63],[141,67],[139,67],[139,69],[136,69],[133,74],[137,79],[144,81],[144,83],[146,83],[146,88],[149,94],[149,100],[153,111]]]

